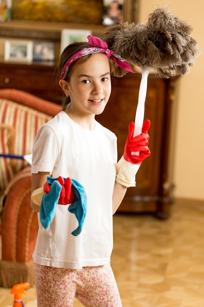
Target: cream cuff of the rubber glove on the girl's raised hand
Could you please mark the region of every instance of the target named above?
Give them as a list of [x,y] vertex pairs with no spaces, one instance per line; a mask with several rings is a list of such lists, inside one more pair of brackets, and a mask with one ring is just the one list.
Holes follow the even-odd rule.
[[116,181],[127,188],[136,186],[136,173],[140,164],[127,162],[122,156],[116,164]]

